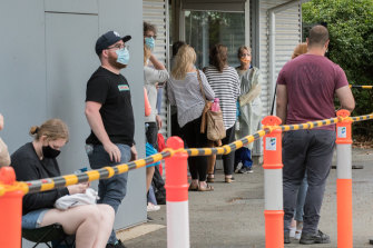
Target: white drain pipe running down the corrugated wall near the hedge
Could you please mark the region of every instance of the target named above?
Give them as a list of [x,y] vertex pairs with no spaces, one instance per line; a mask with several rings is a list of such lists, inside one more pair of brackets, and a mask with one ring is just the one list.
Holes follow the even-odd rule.
[[[271,83],[271,95],[269,99],[273,102],[275,99],[275,86],[276,86],[276,13],[287,10],[294,6],[301,4],[302,0],[292,0],[279,6],[273,7],[268,9],[268,18],[269,18],[269,83]],[[276,105],[275,105],[276,106]]]

